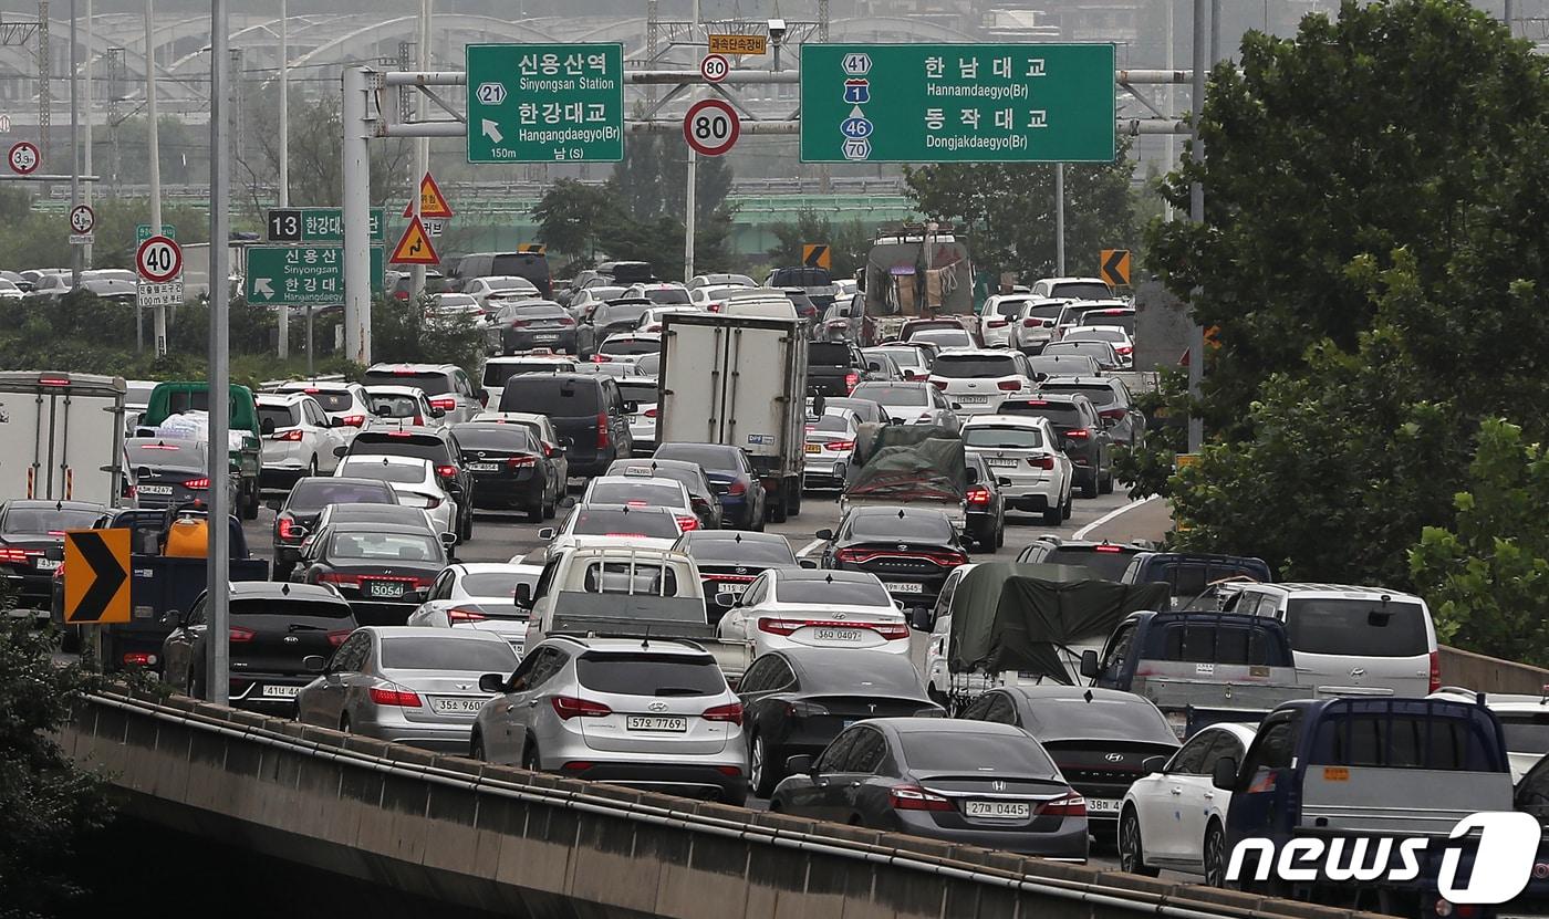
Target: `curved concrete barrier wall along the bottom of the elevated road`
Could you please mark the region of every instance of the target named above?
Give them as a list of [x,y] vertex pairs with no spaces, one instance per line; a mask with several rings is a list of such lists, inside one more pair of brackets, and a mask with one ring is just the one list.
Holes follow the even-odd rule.
[[136,817],[539,919],[1352,919],[1349,911],[530,774],[173,698],[60,744]]

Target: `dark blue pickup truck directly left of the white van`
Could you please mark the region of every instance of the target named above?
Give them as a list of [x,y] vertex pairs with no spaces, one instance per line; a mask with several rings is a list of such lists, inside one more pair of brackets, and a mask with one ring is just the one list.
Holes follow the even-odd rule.
[[1317,687],[1297,682],[1286,627],[1235,613],[1131,613],[1101,654],[1081,651],[1081,676],[1151,699],[1180,740],[1317,696]]

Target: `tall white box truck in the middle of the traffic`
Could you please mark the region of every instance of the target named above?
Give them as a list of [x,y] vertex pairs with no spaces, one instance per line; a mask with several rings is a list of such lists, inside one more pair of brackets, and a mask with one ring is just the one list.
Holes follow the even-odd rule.
[[807,340],[799,320],[671,313],[661,330],[658,444],[747,450],[768,518],[801,514]]

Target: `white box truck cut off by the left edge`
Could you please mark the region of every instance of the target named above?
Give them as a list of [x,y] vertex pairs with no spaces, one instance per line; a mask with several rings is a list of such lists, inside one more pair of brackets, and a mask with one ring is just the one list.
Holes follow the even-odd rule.
[[121,378],[0,373],[0,500],[91,501],[124,495]]

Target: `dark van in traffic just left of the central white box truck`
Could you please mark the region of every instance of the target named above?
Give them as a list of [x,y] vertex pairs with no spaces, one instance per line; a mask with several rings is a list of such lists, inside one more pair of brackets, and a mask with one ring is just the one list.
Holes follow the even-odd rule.
[[573,477],[603,475],[613,460],[629,458],[629,416],[635,408],[613,378],[589,373],[524,373],[500,391],[500,412],[548,416],[565,444]]

